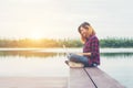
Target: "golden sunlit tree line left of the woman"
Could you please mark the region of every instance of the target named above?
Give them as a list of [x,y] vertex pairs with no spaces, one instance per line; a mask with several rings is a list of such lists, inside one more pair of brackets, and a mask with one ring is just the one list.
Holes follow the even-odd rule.
[[82,46],[80,40],[53,40],[53,38],[21,38],[21,40],[0,40],[0,47],[79,47]]

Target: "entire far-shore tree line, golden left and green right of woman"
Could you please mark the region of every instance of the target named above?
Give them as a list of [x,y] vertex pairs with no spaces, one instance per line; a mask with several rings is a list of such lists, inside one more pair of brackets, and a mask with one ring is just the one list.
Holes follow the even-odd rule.
[[[21,40],[8,40],[0,38],[0,47],[82,47],[83,44],[80,40],[63,38],[21,38]],[[100,40],[100,47],[133,47],[133,38],[119,38],[119,37],[106,37]]]

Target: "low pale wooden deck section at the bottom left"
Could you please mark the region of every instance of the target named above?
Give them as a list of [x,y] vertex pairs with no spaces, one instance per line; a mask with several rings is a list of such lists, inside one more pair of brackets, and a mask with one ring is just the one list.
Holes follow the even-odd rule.
[[68,77],[0,77],[0,88],[68,88]]

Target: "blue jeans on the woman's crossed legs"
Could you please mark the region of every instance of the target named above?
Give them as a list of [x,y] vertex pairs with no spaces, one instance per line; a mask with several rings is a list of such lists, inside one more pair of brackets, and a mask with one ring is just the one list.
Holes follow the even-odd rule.
[[85,57],[85,56],[81,56],[81,55],[76,55],[76,54],[70,53],[68,55],[68,58],[71,62],[82,63],[82,64],[84,64],[85,67],[89,66],[89,58]]

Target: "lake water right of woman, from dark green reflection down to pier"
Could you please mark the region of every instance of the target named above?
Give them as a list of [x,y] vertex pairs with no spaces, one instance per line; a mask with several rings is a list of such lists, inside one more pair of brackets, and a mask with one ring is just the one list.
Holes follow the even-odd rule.
[[100,68],[126,88],[133,88],[133,53],[103,54]]

